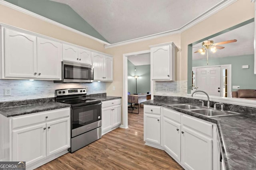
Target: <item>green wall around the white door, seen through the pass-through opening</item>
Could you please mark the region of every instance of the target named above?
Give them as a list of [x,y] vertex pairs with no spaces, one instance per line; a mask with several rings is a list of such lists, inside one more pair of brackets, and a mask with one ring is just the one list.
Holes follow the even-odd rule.
[[[254,55],[236,57],[212,58],[209,66],[232,64],[232,86],[240,86],[240,89],[256,89],[256,74],[254,74]],[[248,69],[242,69],[242,65],[249,65]],[[193,67],[206,66],[206,59],[193,60]],[[237,89],[232,89],[236,91]]]

